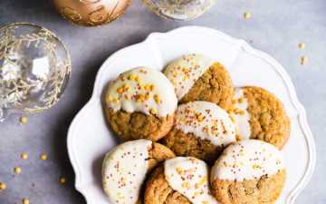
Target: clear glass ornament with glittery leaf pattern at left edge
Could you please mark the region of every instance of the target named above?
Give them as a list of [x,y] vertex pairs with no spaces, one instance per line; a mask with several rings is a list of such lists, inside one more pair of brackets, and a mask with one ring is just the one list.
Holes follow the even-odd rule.
[[27,23],[0,29],[0,121],[16,112],[43,112],[58,102],[72,70],[51,31]]

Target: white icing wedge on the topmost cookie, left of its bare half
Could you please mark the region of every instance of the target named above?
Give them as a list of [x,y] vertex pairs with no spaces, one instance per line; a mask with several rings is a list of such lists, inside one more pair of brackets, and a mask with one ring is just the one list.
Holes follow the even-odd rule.
[[175,86],[177,100],[181,100],[209,67],[213,60],[202,54],[187,54],[169,63],[164,74]]

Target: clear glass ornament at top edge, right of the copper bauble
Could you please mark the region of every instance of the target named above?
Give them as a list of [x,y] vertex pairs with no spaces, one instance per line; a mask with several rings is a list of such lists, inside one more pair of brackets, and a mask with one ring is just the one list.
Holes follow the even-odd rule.
[[216,0],[143,0],[155,14],[172,20],[192,20],[206,13]]

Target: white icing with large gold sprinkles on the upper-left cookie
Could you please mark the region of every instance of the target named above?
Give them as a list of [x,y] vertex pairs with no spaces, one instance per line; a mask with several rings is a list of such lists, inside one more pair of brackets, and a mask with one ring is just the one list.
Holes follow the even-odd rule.
[[177,96],[168,78],[158,70],[138,67],[110,83],[106,102],[114,112],[143,112],[160,117],[177,109]]

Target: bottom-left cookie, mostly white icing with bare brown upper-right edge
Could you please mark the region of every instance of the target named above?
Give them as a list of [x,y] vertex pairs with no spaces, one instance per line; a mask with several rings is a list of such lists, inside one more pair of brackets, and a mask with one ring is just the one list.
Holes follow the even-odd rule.
[[159,161],[175,155],[156,142],[127,141],[106,154],[102,166],[103,189],[111,204],[142,203],[146,175]]

